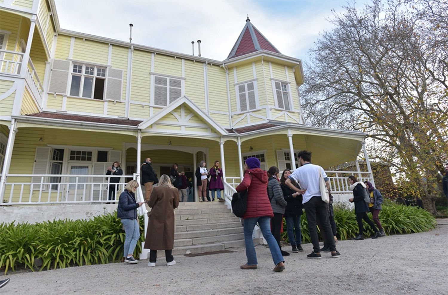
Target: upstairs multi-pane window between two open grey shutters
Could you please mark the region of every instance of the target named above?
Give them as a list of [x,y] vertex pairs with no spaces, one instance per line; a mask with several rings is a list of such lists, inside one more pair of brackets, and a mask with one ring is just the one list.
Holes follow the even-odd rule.
[[73,64],[70,95],[103,100],[105,80],[106,68]]

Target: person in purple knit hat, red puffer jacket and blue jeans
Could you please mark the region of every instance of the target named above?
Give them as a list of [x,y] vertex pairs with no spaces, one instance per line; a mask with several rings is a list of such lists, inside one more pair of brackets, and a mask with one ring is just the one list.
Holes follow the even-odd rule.
[[274,217],[271,202],[267,196],[267,173],[260,169],[260,161],[257,158],[247,158],[244,163],[244,178],[236,188],[237,192],[247,189],[247,209],[243,215],[244,242],[246,245],[247,263],[241,265],[241,269],[257,269],[257,253],[255,252],[254,227],[258,223],[264,239],[266,239],[274,261],[275,272],[284,270],[284,259],[280,247],[271,233],[271,218]]

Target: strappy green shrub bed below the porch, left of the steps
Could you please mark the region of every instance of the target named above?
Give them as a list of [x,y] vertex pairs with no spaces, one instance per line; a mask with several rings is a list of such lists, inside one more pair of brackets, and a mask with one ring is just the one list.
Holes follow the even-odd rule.
[[[90,220],[1,223],[0,232],[0,268],[4,268],[5,274],[16,267],[37,270],[34,266],[37,259],[42,260],[38,270],[117,262],[123,256],[125,241],[116,213]],[[144,240],[142,216],[140,233],[134,251],[136,257]]]

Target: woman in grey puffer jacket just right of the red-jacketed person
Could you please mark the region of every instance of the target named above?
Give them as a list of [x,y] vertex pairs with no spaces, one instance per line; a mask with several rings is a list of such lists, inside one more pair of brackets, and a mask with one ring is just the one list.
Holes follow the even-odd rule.
[[[284,210],[288,203],[284,200],[283,192],[280,188],[279,173],[279,168],[275,166],[272,166],[267,171],[267,176],[269,176],[267,182],[267,196],[271,201],[272,211],[274,212],[274,217],[271,218],[272,235],[274,235],[274,238],[280,247],[280,230],[283,223]],[[280,251],[283,256],[289,256],[289,253],[283,251],[281,247]]]

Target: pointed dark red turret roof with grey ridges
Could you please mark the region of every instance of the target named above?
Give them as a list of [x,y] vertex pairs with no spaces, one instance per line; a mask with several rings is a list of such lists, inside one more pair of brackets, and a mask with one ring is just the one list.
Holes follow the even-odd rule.
[[233,45],[232,51],[230,51],[227,59],[261,50],[280,53],[280,51],[278,51],[277,48],[274,47],[274,45],[272,45],[272,43],[269,42],[269,40],[267,40],[254,25],[252,25],[249,17],[247,17],[246,25],[241,31],[237,42]]

